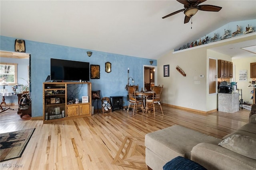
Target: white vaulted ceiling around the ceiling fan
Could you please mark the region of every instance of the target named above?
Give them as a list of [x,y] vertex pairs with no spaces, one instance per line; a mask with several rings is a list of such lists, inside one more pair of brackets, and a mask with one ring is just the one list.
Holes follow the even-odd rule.
[[183,12],[162,19],[184,8],[176,0],[1,0],[0,35],[158,59],[226,23],[256,18],[256,0],[207,0],[202,4],[222,10],[198,11],[191,29],[190,22],[184,24]]

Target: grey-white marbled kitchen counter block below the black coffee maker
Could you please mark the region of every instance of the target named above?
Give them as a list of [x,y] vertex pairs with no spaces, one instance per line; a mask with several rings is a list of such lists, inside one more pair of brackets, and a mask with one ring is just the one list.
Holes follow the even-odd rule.
[[239,93],[218,93],[218,111],[227,113],[239,111]]

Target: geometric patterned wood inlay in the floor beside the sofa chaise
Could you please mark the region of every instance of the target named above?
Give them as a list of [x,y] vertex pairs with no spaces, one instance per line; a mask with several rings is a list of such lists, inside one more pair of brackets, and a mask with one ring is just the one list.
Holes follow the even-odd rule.
[[132,169],[147,170],[144,138],[127,136],[120,146],[112,164]]

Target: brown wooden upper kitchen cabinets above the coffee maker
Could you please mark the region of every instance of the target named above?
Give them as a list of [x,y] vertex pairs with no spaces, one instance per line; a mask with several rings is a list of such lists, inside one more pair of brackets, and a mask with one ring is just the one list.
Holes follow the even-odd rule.
[[218,60],[218,78],[233,78],[233,63]]

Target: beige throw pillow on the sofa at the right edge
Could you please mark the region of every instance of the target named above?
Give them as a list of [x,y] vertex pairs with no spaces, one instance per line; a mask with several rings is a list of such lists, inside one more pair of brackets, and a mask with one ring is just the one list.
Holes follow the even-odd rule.
[[221,141],[218,145],[249,158],[256,159],[256,139],[242,135],[232,135]]

